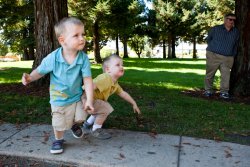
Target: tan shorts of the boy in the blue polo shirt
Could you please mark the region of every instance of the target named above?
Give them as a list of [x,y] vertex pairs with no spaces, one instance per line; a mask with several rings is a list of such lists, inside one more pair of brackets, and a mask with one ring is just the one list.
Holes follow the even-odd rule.
[[64,131],[72,127],[74,123],[82,123],[87,118],[83,110],[82,101],[67,106],[52,106],[52,126],[54,130]]

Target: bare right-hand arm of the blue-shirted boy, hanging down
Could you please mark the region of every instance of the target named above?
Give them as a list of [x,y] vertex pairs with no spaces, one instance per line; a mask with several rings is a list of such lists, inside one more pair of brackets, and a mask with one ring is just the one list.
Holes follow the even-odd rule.
[[89,110],[89,112],[94,112],[94,107],[93,107],[93,92],[94,92],[94,85],[93,85],[93,80],[91,77],[85,77],[83,79],[84,82],[84,90],[86,94],[86,103],[84,106],[84,110]]

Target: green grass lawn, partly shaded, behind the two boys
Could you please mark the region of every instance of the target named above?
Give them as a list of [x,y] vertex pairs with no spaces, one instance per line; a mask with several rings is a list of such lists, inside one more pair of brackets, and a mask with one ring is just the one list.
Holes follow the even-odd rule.
[[[20,83],[32,61],[0,62],[0,86]],[[127,102],[112,96],[115,111],[105,128],[184,135],[250,145],[250,105],[187,96],[203,88],[205,60],[126,59],[120,84],[137,101],[137,117]],[[93,77],[101,73],[92,65]],[[215,87],[219,86],[218,74]],[[44,90],[47,91],[47,90]],[[0,120],[10,123],[51,122],[48,97],[1,93]]]

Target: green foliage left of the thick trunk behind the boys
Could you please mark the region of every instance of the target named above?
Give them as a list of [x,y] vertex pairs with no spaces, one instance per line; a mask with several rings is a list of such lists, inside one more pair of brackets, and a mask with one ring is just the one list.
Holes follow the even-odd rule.
[[32,0],[0,1],[0,32],[10,51],[23,53],[34,48],[34,8]]

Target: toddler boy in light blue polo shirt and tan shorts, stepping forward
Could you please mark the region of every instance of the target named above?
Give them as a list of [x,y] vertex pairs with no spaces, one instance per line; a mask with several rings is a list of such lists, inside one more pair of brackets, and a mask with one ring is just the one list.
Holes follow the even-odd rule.
[[[62,19],[55,25],[56,37],[61,45],[31,72],[24,73],[22,83],[29,84],[50,74],[50,104],[55,140],[50,152],[63,152],[64,131],[71,129],[73,136],[81,138],[78,125],[86,119],[86,112],[93,112],[93,81],[88,56],[82,52],[85,45],[84,25],[74,17]],[[81,101],[84,83],[86,100]]]

